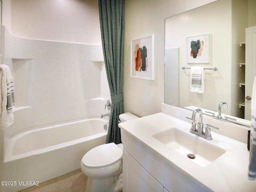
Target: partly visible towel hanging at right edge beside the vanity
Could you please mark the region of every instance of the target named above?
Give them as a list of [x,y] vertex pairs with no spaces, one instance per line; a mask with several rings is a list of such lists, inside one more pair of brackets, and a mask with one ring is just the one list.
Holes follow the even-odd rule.
[[252,121],[250,132],[250,158],[248,179],[256,179],[256,77],[254,78],[254,84],[252,88]]

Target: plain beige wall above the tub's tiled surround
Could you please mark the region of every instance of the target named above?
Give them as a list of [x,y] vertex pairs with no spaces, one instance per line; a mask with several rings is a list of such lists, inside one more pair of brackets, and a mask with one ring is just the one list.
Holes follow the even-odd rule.
[[97,0],[12,0],[12,35],[101,44]]

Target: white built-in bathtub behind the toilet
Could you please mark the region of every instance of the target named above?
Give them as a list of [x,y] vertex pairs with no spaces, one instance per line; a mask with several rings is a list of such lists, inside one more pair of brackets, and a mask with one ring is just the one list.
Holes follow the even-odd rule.
[[108,128],[108,120],[90,118],[13,136],[1,166],[1,180],[11,181],[13,185],[2,186],[2,191],[15,192],[28,188],[30,181],[40,185],[79,169],[86,152],[106,143],[107,129],[104,128]]

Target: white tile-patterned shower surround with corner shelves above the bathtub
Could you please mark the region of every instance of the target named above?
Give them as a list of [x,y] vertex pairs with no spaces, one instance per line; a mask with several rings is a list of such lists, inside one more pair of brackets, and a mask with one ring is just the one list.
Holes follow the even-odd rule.
[[[4,130],[5,150],[9,138],[24,129],[99,117],[108,112],[104,105],[110,99],[110,93],[107,80],[102,80],[106,78],[106,72],[102,70],[101,45],[33,40],[12,36],[5,27],[3,31],[2,63],[11,70],[19,69],[17,65],[22,63],[26,68],[26,78],[19,85],[24,86],[24,90],[28,87],[29,99],[21,106],[16,102],[16,108],[30,106],[14,112],[14,124]],[[15,73],[14,83],[19,81],[15,79]],[[19,90],[22,89],[19,87]],[[15,84],[14,93],[15,97],[24,94],[18,92]]]

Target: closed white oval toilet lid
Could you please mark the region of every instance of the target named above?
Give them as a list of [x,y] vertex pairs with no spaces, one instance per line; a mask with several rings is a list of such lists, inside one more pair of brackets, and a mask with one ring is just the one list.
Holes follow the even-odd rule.
[[97,146],[88,151],[82,158],[87,167],[102,167],[113,164],[122,158],[123,150],[115,143],[108,143]]

